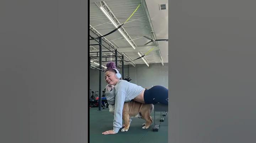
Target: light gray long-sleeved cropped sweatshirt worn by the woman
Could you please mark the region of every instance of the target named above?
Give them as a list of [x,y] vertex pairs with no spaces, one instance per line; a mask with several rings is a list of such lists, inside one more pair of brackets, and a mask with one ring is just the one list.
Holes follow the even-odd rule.
[[141,86],[130,83],[126,80],[119,80],[114,87],[114,94],[112,95],[112,97],[109,93],[106,93],[106,96],[108,96],[107,98],[110,100],[110,103],[115,104],[113,121],[114,132],[118,133],[119,129],[122,128],[122,114],[124,102],[131,101],[132,99],[137,97],[143,90],[144,88]]

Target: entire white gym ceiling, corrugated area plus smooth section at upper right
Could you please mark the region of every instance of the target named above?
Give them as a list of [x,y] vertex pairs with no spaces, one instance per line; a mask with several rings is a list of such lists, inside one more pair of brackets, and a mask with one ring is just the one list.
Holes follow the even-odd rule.
[[[153,36],[153,39],[168,39],[168,9],[159,10],[159,4],[167,4],[168,0],[90,0],[90,35],[96,38],[97,36],[105,35],[116,29],[100,7],[103,7],[118,25],[124,23],[130,15],[132,15],[140,2],[142,2],[142,4],[138,10],[129,21],[120,28],[123,33],[127,35],[126,37],[130,40],[135,49],[117,30],[110,35],[104,36],[102,39],[102,51],[108,51],[105,47],[110,48],[109,45],[111,45],[111,47],[116,48],[119,53],[123,53],[124,59],[129,61],[124,62],[124,64],[132,64],[135,66],[136,64],[145,64],[142,58],[133,61],[140,57],[138,52],[144,55],[154,48],[145,56],[144,59],[146,63],[149,64],[149,67],[150,63],[162,63],[162,65],[164,65],[164,63],[168,63],[168,42],[151,42],[144,46],[144,44],[150,40],[143,36],[149,38],[152,38],[151,36]],[[150,19],[148,17],[150,17]],[[151,34],[151,31],[153,31],[154,34]],[[98,44],[98,42],[90,40],[90,45],[92,44]],[[90,46],[90,50],[90,52],[97,52],[99,51],[99,46]],[[113,49],[111,50],[113,51]],[[102,56],[109,55],[111,55],[111,52],[102,53]],[[90,57],[94,56],[99,55],[90,53]],[[119,54],[118,56],[121,57]],[[102,61],[106,61],[105,59],[106,58],[102,59]],[[107,61],[112,60],[114,60],[114,58],[107,59]],[[118,60],[121,59],[118,58]],[[94,62],[92,65],[96,67],[98,66],[99,58],[91,58],[91,61]],[[105,66],[106,63],[107,62],[102,62],[102,65]],[[118,62],[118,66],[122,67],[121,62]]]

